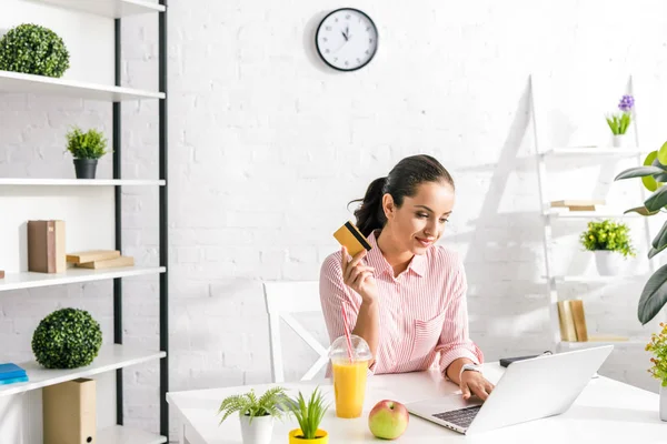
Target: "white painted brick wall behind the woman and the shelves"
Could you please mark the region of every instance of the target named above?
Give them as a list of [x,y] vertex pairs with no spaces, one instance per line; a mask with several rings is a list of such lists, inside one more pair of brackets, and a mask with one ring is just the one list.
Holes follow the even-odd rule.
[[[418,152],[436,155],[457,180],[458,203],[445,242],[465,256],[471,332],[487,359],[546,347],[528,74],[631,71],[659,84],[656,73],[667,62],[667,6],[658,0],[633,8],[619,0],[605,8],[575,0],[354,6],[378,24],[379,53],[359,72],[336,73],[318,61],[311,40],[337,2],[171,1],[171,390],[268,381],[260,281],[317,279],[319,264],[336,249],[331,232],[350,218],[347,202]],[[125,23],[126,84],[155,88],[157,22],[140,17]],[[617,93],[611,95],[614,104]],[[69,175],[60,141],[71,119],[110,128],[108,108],[80,101],[3,97],[0,111],[1,175]],[[651,111],[644,122],[660,121],[659,110]],[[157,105],[126,104],[123,119],[123,173],[155,176]],[[556,123],[560,134],[569,129],[566,121]],[[651,147],[665,138],[657,125],[644,134]],[[109,163],[102,168],[110,171]],[[600,170],[591,167],[590,173]],[[567,181],[560,178],[557,183]],[[132,190],[125,209],[126,249],[155,263],[157,194]],[[559,266],[587,264],[576,244],[580,229],[558,229],[565,249]],[[641,283],[616,291],[589,286],[591,325],[648,335],[650,329],[635,319]],[[126,284],[132,294],[126,299],[128,341],[157,345],[156,287],[151,280]],[[565,296],[587,289],[565,289]],[[109,294],[103,283],[60,290],[57,302],[46,291],[3,294],[0,342],[18,340],[8,359],[26,356],[19,345],[56,304],[84,304],[110,331]],[[321,322],[305,322],[326,340]],[[313,356],[305,346],[291,347],[295,341],[285,335],[288,375],[296,376]],[[624,350],[604,373],[655,390],[644,353]],[[128,423],[157,426],[156,374],[157,365],[128,371]]]

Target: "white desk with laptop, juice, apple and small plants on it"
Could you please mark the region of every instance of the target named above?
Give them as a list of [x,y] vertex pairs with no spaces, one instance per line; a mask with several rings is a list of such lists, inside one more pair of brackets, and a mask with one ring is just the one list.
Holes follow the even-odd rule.
[[[497,363],[485,364],[485,375],[496,382],[502,367]],[[447,395],[458,387],[444,381],[436,372],[406,373],[369,377],[365,413],[357,420],[336,417],[331,405],[321,428],[329,432],[331,444],[380,442],[368,430],[368,412],[384,398],[411,402],[437,395]],[[658,382],[656,381],[656,384]],[[295,394],[302,390],[310,393],[320,385],[330,401],[334,400],[331,383],[299,382],[281,384]],[[255,385],[261,392],[273,384]],[[245,393],[251,386],[198,390],[167,394],[167,401],[182,423],[181,444],[240,444],[240,424],[236,415],[218,426],[220,402],[230,394]],[[292,392],[295,390],[295,392]],[[529,390],[526,387],[526,390]],[[536,396],[539,394],[536,393]],[[475,436],[464,436],[437,424],[410,415],[406,433],[397,440],[401,443],[665,443],[667,423],[658,416],[659,397],[640,389],[614,380],[591,380],[576,403],[563,415],[518,424]],[[287,443],[287,434],[296,428],[293,417],[285,423],[276,422],[273,443]]]

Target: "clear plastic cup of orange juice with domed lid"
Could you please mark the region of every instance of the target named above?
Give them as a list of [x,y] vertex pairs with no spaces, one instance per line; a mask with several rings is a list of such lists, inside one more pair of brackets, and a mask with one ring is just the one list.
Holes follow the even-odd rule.
[[372,359],[368,343],[356,334],[350,335],[351,356],[348,340],[340,336],[331,344],[329,359],[334,377],[336,416],[359,417],[364,411],[366,375],[368,362]]

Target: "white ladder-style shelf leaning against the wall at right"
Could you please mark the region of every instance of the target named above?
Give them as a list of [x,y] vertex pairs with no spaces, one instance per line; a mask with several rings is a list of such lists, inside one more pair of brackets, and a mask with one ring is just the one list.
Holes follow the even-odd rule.
[[[631,77],[629,78],[631,84]],[[637,122],[636,119],[633,120],[631,125],[635,131],[635,147],[637,148],[615,148],[615,147],[551,147],[544,148],[541,144],[539,125],[541,122],[536,117],[538,113],[538,105],[541,103],[540,97],[540,88],[537,84],[539,83],[536,80],[536,75],[530,77],[530,99],[531,99],[531,115],[532,115],[532,129],[535,137],[535,155],[537,159],[537,176],[538,176],[538,185],[539,185],[539,195],[540,195],[540,205],[541,205],[541,214],[544,221],[544,253],[545,253],[545,264],[546,264],[546,275],[542,276],[547,281],[548,292],[549,292],[549,325],[551,332],[551,341],[556,349],[564,350],[574,350],[577,347],[584,346],[594,346],[600,344],[618,344],[618,345],[627,345],[627,346],[644,346],[645,341],[640,340],[628,340],[628,341],[587,341],[587,342],[567,342],[561,341],[560,336],[560,325],[559,325],[559,315],[558,315],[558,286],[565,283],[596,283],[596,284],[614,284],[620,283],[623,281],[631,280],[638,278],[638,275],[620,275],[620,276],[599,276],[599,275],[557,275],[554,271],[554,258],[552,258],[552,223],[565,220],[601,220],[601,219],[637,219],[644,218],[644,238],[648,245],[650,245],[651,238],[649,232],[649,224],[647,218],[637,214],[635,212],[624,213],[624,210],[617,209],[603,209],[600,211],[568,211],[567,209],[554,209],[550,205],[551,201],[556,201],[558,199],[563,199],[563,196],[554,196],[555,199],[549,199],[548,192],[546,190],[546,182],[548,181],[547,174],[547,160],[556,157],[568,157],[568,158],[580,158],[588,162],[603,160],[618,160],[618,159],[627,159],[633,158],[636,160],[637,165],[641,165],[644,161],[644,155],[647,154],[650,150],[643,150],[639,143],[638,131],[637,131]],[[639,181],[638,186],[640,188],[641,201],[646,199],[646,193],[641,182]],[[651,261],[648,263],[650,273],[654,272],[654,264]],[[614,332],[610,332],[614,333]],[[595,336],[595,334],[590,334]]]

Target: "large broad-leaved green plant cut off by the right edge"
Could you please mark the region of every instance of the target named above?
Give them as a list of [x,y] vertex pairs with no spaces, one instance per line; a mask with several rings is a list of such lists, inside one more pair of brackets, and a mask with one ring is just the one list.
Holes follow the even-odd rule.
[[[644,205],[627,210],[626,213],[636,212],[645,216],[658,214],[667,205],[667,143],[650,152],[644,167],[635,167],[620,172],[615,180],[641,178],[644,186],[653,194],[644,202]],[[653,240],[648,258],[651,259],[667,248],[667,222],[663,225]],[[648,323],[667,303],[667,265],[660,266],[648,279],[637,307],[637,317],[641,324]]]

